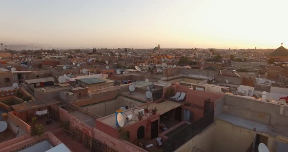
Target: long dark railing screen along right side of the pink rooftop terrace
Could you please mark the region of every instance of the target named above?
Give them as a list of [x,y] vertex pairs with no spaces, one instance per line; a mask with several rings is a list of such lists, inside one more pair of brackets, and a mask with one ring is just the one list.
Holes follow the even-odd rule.
[[214,110],[177,131],[164,141],[163,152],[173,152],[214,122]]

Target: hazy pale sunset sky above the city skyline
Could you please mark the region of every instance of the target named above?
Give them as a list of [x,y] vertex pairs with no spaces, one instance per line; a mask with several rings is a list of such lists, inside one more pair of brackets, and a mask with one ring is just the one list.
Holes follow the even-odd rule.
[[288,0],[3,0],[0,42],[40,48],[277,48]]

